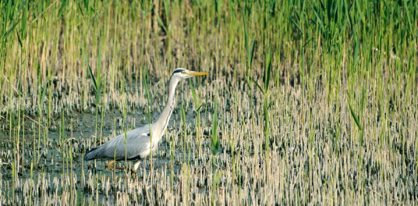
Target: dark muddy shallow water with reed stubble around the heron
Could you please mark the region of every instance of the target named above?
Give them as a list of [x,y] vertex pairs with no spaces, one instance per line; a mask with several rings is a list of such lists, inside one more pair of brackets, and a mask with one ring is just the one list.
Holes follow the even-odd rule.
[[[157,115],[157,112],[152,113],[152,119],[155,120]],[[201,116],[203,117],[203,114]],[[13,199],[17,202],[20,200],[19,197],[24,196],[24,184],[17,185],[13,182],[14,178],[19,182],[25,182],[25,180],[38,182],[38,177],[47,177],[47,180],[50,181],[49,184],[53,185],[54,177],[61,179],[62,177],[72,176],[77,177],[77,196],[79,198],[92,196],[93,194],[91,194],[88,184],[86,184],[92,175],[114,179],[114,177],[124,177],[129,170],[109,171],[104,168],[104,164],[107,162],[105,160],[83,161],[85,152],[89,148],[93,148],[94,143],[100,145],[100,143],[113,138],[127,128],[133,129],[145,125],[146,122],[141,122],[144,119],[146,119],[144,113],[140,111],[128,113],[125,118],[123,118],[123,113],[119,111],[108,111],[104,113],[103,118],[99,114],[97,138],[96,116],[91,113],[72,113],[63,118],[57,117],[52,119],[49,127],[42,126],[40,129],[37,123],[38,118],[25,118],[23,131],[10,130],[10,122],[0,122],[1,128],[3,128],[0,131],[1,181],[6,182],[1,185],[3,196],[9,196],[10,198],[15,196]],[[194,127],[194,120],[194,113],[188,112],[186,122],[190,127]],[[46,120],[42,122],[46,122]],[[183,162],[178,161],[178,159],[183,159],[185,152],[176,149],[175,152],[171,152],[170,150],[171,142],[179,141],[179,138],[181,138],[179,137],[181,136],[179,129],[180,114],[177,111],[171,117],[169,124],[170,139],[166,139],[164,136],[160,147],[153,154],[153,173],[164,171],[164,174],[169,175],[178,173],[180,170]],[[10,135],[10,131],[13,135]],[[175,134],[171,135],[171,133]],[[15,150],[17,136],[19,136],[17,145],[19,154]],[[174,156],[170,156],[171,154]],[[15,159],[18,159],[18,161]],[[17,167],[16,177],[12,168],[16,168],[17,164],[20,166]],[[125,168],[129,168],[132,164],[130,161],[117,163],[118,166],[125,166]],[[132,177],[142,178],[150,173],[150,159],[144,159],[140,168],[141,171]],[[15,188],[18,188],[15,189],[14,195],[10,191],[13,184],[15,184]],[[62,193],[61,190],[58,189],[58,192]],[[98,196],[99,198],[103,196],[100,199],[107,199],[104,197],[107,197],[105,194],[99,193]],[[113,200],[109,201],[107,203],[113,203]]]

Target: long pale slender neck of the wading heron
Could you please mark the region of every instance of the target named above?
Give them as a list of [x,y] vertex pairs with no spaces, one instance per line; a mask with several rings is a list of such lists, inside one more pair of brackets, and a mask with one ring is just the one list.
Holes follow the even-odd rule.
[[[160,117],[158,117],[157,121],[155,121],[153,127],[157,129],[157,131],[161,131],[164,134],[167,125],[169,125],[169,120],[171,117],[171,113],[173,113],[174,104],[176,103],[176,86],[178,84],[178,79],[171,78],[169,81],[169,96],[167,97],[167,103],[164,109],[162,110]],[[158,135],[160,138],[162,134]]]

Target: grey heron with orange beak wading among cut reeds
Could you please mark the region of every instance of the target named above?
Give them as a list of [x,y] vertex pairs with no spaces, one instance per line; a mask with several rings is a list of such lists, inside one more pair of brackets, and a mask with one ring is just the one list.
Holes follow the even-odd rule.
[[114,161],[121,161],[125,159],[130,161],[136,160],[134,167],[132,168],[132,172],[136,173],[139,164],[141,163],[141,159],[148,156],[151,150],[155,151],[157,149],[157,144],[161,140],[165,129],[167,129],[176,101],[175,92],[178,82],[182,79],[207,74],[209,73],[193,72],[183,68],[174,70],[169,80],[169,96],[167,97],[167,103],[162,110],[160,117],[158,117],[157,120],[150,125],[148,124],[138,127],[127,131],[126,133],[123,132],[97,148],[91,149],[84,156],[84,160],[109,159],[110,161],[106,164],[106,168],[108,169],[116,169],[115,166],[111,166]]

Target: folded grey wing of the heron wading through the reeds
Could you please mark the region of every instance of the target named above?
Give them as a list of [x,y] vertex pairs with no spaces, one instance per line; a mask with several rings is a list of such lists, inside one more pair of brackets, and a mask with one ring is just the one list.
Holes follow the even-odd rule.
[[137,129],[112,138],[106,143],[94,148],[84,156],[84,160],[106,158],[106,159],[136,159],[146,156],[150,149],[150,127],[144,125]]

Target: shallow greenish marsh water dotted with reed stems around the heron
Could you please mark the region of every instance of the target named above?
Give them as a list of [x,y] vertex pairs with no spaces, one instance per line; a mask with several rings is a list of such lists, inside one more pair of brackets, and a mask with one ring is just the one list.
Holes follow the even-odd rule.
[[[178,113],[178,110],[177,112]],[[169,123],[167,132],[171,130],[181,130],[178,114],[173,114],[172,120]],[[102,119],[99,119],[98,134],[102,135],[102,142],[107,141],[109,138],[113,138],[115,134],[120,134],[123,125],[125,128],[133,128],[134,125],[139,127],[144,123],[136,123],[137,119],[144,119],[146,116],[144,113],[129,113],[125,116],[125,122],[123,122],[123,114],[119,111],[109,111],[104,114]],[[157,115],[154,115],[155,117]],[[153,118],[155,118],[153,117]],[[23,154],[19,154],[22,161],[20,171],[17,174],[10,173],[12,165],[7,159],[15,159],[15,152],[13,152],[15,140],[10,139],[8,135],[8,129],[3,129],[0,136],[0,149],[1,149],[1,191],[9,198],[13,198],[14,203],[26,204],[31,202],[29,196],[25,194],[33,193],[35,195],[38,190],[39,196],[49,196],[42,200],[40,197],[31,197],[33,200],[39,200],[38,203],[59,203],[54,202],[54,196],[65,195],[66,192],[71,191],[68,198],[72,201],[76,200],[77,203],[87,204],[90,203],[92,196],[98,198],[98,203],[105,205],[116,203],[116,191],[126,190],[126,185],[121,185],[121,179],[129,178],[134,180],[141,180],[148,178],[151,172],[150,157],[143,159],[139,172],[137,174],[130,174],[130,166],[132,162],[118,161],[118,166],[125,166],[127,170],[110,171],[104,168],[107,160],[96,161],[83,161],[84,153],[90,146],[93,148],[93,142],[95,140],[95,115],[91,113],[72,113],[65,116],[63,121],[57,117],[53,120],[53,124],[49,129],[41,129],[41,134],[38,133],[38,124],[36,117],[26,117],[26,121],[23,123],[24,131],[20,132],[21,140],[24,141],[21,148],[24,151]],[[194,122],[193,112],[189,112],[186,115],[187,122]],[[6,122],[0,121],[0,125],[3,128],[7,128]],[[64,126],[62,126],[64,125]],[[64,128],[62,128],[64,127]],[[129,129],[128,129],[129,130]],[[189,128],[190,130],[190,128]],[[117,131],[117,132],[116,132]],[[116,133],[115,133],[116,132]],[[206,133],[206,132],[205,132]],[[117,135],[116,134],[116,135]],[[180,141],[182,134],[178,133],[178,136],[171,136],[171,141]],[[44,138],[45,137],[45,138]],[[190,141],[194,141],[190,139]],[[100,140],[97,139],[98,145]],[[204,143],[206,144],[206,143]],[[170,150],[171,143],[166,141],[165,135],[157,151],[153,153],[153,170],[154,175],[166,175],[167,178],[173,175],[177,175],[178,171],[185,164],[183,160],[187,151],[183,150]],[[40,149],[38,148],[40,147]],[[36,152],[33,152],[36,151]],[[39,152],[38,152],[39,151]],[[173,155],[173,156],[170,156]],[[37,157],[36,161],[32,161],[33,157]],[[189,160],[189,164],[193,163]],[[98,175],[102,179],[98,180],[95,185],[89,185],[88,180],[92,175]],[[13,182],[13,178],[17,177],[18,182]],[[72,178],[70,182],[62,179]],[[176,177],[177,178],[177,177]],[[30,180],[29,182],[25,180]],[[103,181],[103,182],[102,182]],[[63,185],[64,184],[64,185]],[[106,184],[103,186],[102,184]],[[116,186],[119,184],[118,186]],[[65,186],[65,187],[63,187]],[[32,187],[32,188],[28,188]],[[91,187],[99,189],[99,193],[92,193]],[[13,193],[13,188],[15,192]],[[71,188],[71,189],[70,189]],[[68,190],[68,191],[66,191]],[[205,192],[203,189],[201,192]],[[71,196],[72,195],[72,196]],[[140,194],[138,194],[140,195]],[[75,199],[74,199],[75,198]],[[141,198],[145,201],[144,198]],[[32,200],[32,201],[33,201]],[[42,202],[44,201],[44,202]],[[145,203],[145,202],[144,202]]]

